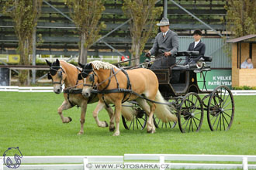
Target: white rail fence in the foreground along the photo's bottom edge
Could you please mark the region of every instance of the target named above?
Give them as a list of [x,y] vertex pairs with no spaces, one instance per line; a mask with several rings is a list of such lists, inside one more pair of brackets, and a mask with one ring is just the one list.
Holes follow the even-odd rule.
[[[14,161],[15,162],[15,161]],[[173,163],[175,162],[175,163]],[[178,163],[182,162],[182,163]],[[188,163],[186,163],[188,162]],[[200,163],[198,163],[200,162]],[[201,163],[206,162],[206,163]],[[210,163],[209,163],[210,162]],[[223,162],[223,163],[214,163]],[[238,162],[238,163],[237,163]],[[250,164],[248,164],[250,162]],[[23,156],[22,169],[256,169],[256,155]],[[0,170],[9,169],[0,157]]]

